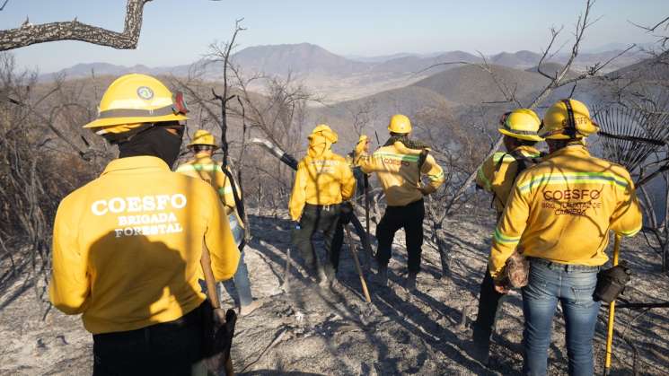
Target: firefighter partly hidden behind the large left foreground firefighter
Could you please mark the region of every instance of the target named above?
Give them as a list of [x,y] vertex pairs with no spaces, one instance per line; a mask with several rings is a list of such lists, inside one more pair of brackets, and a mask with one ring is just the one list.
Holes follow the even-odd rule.
[[[237,272],[234,274],[233,281],[235,290],[239,295],[240,315],[246,316],[253,310],[258,308],[259,303],[253,301],[251,295],[251,282],[249,281],[249,271],[244,262],[244,223],[237,212],[234,195],[237,199],[242,198],[242,193],[239,188],[232,184],[227,175],[223,171],[223,164],[215,162],[212,159],[212,154],[218,148],[214,136],[204,129],[198,129],[193,136],[192,142],[188,145],[189,149],[195,153],[195,158],[189,162],[181,164],[177,168],[177,172],[189,175],[195,178],[207,181],[218,192],[221,201],[224,205],[225,215],[230,229],[233,232],[234,242],[237,244],[241,252],[239,266]],[[228,168],[228,173],[232,175],[232,171]],[[220,288],[220,286],[216,286]],[[232,290],[228,289],[228,293]]]

